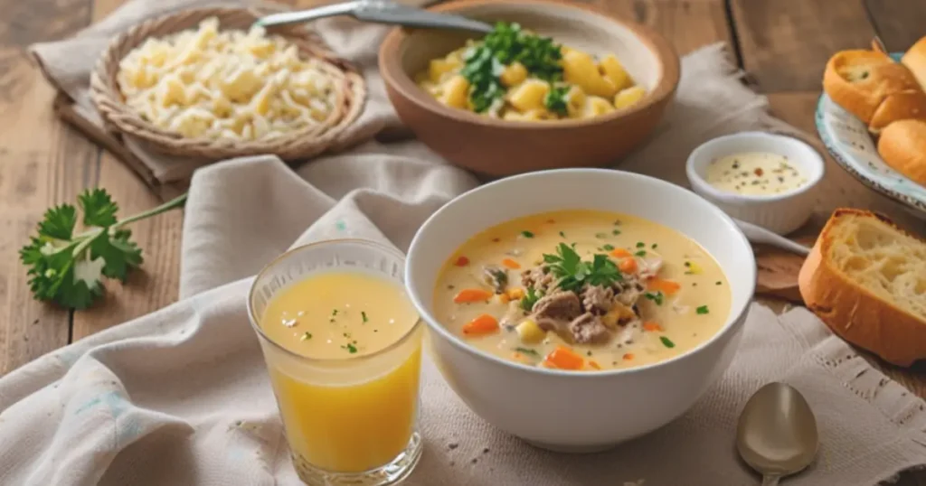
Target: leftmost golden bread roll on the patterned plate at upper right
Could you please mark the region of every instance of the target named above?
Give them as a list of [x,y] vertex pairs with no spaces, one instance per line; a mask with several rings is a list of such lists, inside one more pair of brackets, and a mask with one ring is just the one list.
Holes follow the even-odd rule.
[[905,65],[880,52],[836,53],[823,72],[823,90],[870,131],[897,119],[926,119],[926,93],[920,83]]

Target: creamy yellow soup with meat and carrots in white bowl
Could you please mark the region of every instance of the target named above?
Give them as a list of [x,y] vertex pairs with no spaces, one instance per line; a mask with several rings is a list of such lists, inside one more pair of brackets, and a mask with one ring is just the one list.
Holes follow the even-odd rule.
[[717,333],[731,293],[720,265],[678,231],[569,210],[518,218],[444,264],[434,314],[467,343],[525,365],[632,368]]

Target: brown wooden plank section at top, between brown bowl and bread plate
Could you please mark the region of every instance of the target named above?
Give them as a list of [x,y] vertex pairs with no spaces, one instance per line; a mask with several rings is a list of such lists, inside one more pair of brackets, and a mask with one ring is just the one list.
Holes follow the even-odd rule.
[[763,93],[816,91],[832,53],[874,37],[860,0],[730,0],[743,67]]

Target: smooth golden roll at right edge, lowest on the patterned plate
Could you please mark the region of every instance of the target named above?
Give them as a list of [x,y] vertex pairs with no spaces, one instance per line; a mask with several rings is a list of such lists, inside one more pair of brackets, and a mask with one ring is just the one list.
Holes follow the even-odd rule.
[[926,187],[926,121],[895,121],[881,132],[878,153],[884,163]]

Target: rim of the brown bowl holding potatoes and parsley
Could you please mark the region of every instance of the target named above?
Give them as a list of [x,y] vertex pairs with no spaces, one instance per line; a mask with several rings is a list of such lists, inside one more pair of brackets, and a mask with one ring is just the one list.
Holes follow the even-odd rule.
[[675,49],[669,44],[661,34],[654,31],[641,23],[631,20],[618,19],[606,11],[587,5],[578,5],[566,3],[560,0],[507,0],[499,3],[497,0],[454,0],[437,6],[429,7],[428,10],[434,12],[453,12],[463,13],[469,7],[476,6],[504,6],[524,8],[531,6],[553,6],[562,9],[572,9],[591,14],[593,16],[606,19],[607,21],[617,24],[620,27],[632,31],[637,39],[640,40],[656,57],[659,74],[656,87],[647,92],[644,98],[632,106],[616,109],[606,115],[592,118],[569,118],[557,119],[544,123],[524,120],[506,120],[501,118],[483,117],[469,110],[451,108],[437,102],[432,96],[422,90],[418,84],[405,72],[401,67],[398,56],[400,47],[409,36],[409,31],[402,27],[396,27],[386,34],[380,45],[379,51],[379,69],[382,80],[385,84],[399,93],[402,98],[415,104],[419,109],[431,112],[434,115],[443,118],[480,125],[490,128],[505,128],[514,130],[556,130],[565,128],[587,127],[601,124],[616,119],[630,118],[639,113],[645,112],[651,106],[657,106],[666,98],[675,93],[681,78],[681,64],[679,56]]

